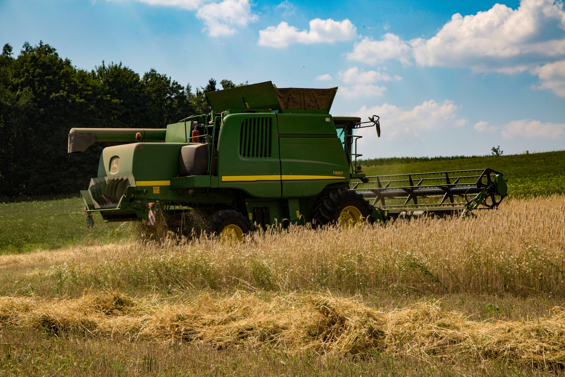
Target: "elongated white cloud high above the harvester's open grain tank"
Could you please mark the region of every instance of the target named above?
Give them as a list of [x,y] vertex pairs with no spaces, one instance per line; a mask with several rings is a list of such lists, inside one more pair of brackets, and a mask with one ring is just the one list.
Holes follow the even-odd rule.
[[270,26],[259,31],[260,46],[286,47],[293,43],[313,44],[347,41],[357,37],[357,28],[350,20],[334,21],[331,18],[321,20],[316,18],[310,21],[310,30],[298,31],[286,22]]

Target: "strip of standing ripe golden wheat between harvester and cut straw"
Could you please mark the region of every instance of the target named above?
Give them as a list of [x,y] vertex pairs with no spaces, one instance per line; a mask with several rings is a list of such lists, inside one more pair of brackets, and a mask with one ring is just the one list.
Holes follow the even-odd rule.
[[565,197],[509,200],[467,219],[347,229],[291,227],[243,244],[167,239],[107,245],[50,272],[73,287],[375,289],[565,297]]

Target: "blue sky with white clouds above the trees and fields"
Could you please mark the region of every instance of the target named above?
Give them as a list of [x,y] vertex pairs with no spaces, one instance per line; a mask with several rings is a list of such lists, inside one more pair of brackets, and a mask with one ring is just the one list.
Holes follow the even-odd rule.
[[339,86],[333,115],[381,116],[365,157],[565,149],[565,11],[553,0],[0,0],[0,43],[210,77]]

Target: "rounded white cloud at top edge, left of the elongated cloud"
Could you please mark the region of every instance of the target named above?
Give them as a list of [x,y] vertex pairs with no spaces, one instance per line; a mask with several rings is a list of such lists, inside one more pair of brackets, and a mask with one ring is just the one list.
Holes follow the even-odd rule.
[[251,13],[249,0],[224,0],[221,3],[203,5],[196,12],[202,19],[212,37],[228,36],[236,32],[236,26],[246,26],[257,20]]

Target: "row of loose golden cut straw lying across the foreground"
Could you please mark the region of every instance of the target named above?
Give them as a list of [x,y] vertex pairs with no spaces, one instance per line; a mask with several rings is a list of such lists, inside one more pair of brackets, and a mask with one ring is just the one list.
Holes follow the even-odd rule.
[[200,294],[163,304],[118,292],[75,300],[0,298],[8,327],[80,333],[94,338],[232,346],[276,346],[363,357],[373,352],[424,358],[473,357],[481,361],[565,364],[565,312],[549,318],[476,322],[445,311],[438,302],[401,309],[375,309],[357,298],[324,294],[259,297],[236,291],[224,297]]

